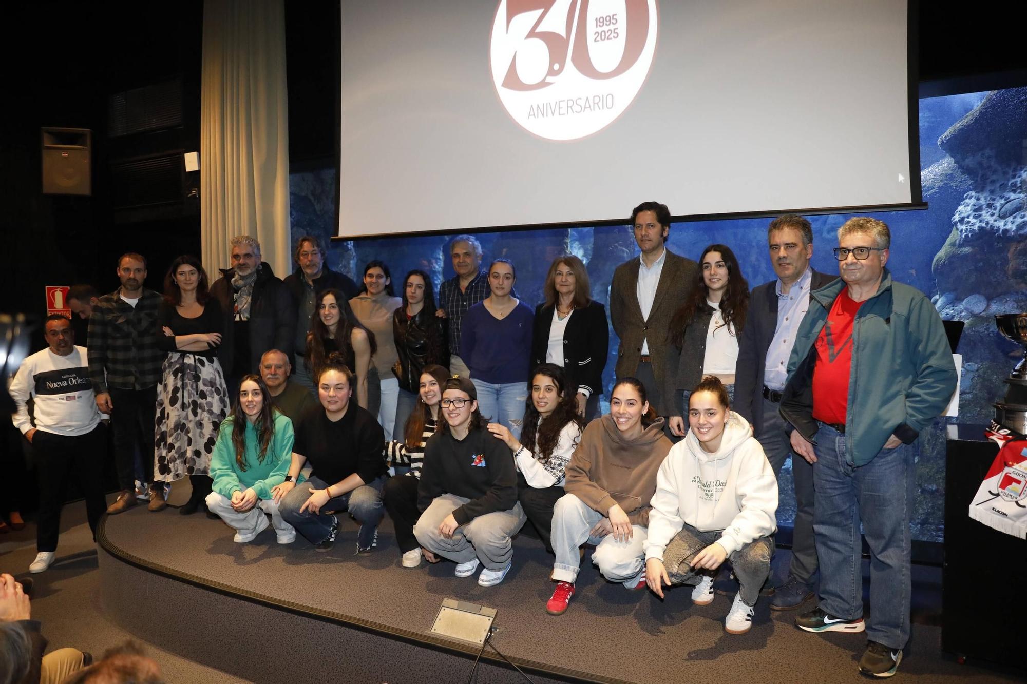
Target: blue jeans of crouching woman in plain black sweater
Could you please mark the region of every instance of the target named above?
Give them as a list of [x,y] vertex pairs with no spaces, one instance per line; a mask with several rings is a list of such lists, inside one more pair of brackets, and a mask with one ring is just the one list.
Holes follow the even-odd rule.
[[300,483],[286,495],[286,498],[278,504],[278,514],[283,521],[295,527],[304,539],[312,544],[319,544],[332,534],[332,516],[326,512],[329,510],[349,511],[349,515],[356,519],[356,522],[362,526],[378,527],[378,523],[385,516],[385,506],[382,503],[382,487],[384,485],[385,478],[378,478],[351,492],[346,492],[342,496],[329,499],[328,503],[321,506],[321,512],[315,514],[309,508],[300,512],[300,508],[310,498],[311,489],[325,489],[328,486],[324,480],[314,477]]

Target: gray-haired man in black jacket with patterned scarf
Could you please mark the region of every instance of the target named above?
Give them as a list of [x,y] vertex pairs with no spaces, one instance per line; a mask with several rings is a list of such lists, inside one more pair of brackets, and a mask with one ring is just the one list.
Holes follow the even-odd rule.
[[228,320],[218,354],[229,395],[239,389],[239,378],[258,373],[267,349],[293,353],[296,312],[293,298],[271,265],[261,261],[260,242],[250,235],[231,239],[232,268],[221,269],[211,286]]

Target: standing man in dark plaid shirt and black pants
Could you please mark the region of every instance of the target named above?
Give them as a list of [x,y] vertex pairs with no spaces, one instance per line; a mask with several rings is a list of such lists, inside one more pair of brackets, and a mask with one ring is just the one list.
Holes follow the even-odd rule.
[[[114,459],[121,494],[107,508],[119,514],[136,505],[136,447],[150,484],[151,507],[163,507],[163,485],[153,480],[157,382],[164,352],[157,348],[161,296],[143,288],[146,258],[129,252],[118,259],[121,287],[104,295],[89,317],[89,379],[101,413],[111,417]],[[159,501],[159,504],[158,504]]]

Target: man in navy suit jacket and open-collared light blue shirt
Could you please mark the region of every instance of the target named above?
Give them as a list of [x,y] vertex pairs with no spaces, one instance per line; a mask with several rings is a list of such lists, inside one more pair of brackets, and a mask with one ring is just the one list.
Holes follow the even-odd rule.
[[[792,453],[778,404],[795,333],[809,308],[809,293],[828,284],[835,276],[817,273],[809,265],[813,231],[803,217],[789,214],[771,221],[767,242],[777,278],[755,288],[749,299],[746,328],[738,339],[732,408],[752,424],[777,476]],[[804,459],[793,457],[792,476],[796,506],[792,565],[788,579],[777,587],[770,602],[775,610],[798,608],[812,596],[817,568],[813,545],[813,468]]]

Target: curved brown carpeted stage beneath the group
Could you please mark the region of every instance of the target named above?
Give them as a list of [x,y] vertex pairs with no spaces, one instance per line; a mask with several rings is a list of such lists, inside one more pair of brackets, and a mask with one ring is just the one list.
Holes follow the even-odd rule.
[[[356,525],[348,519],[335,547],[319,554],[302,538],[276,544],[271,529],[236,544],[221,522],[177,512],[140,506],[105,517],[98,534],[105,611],[146,641],[254,682],[465,682],[478,648],[428,632],[446,598],[495,608],[492,642],[538,682],[860,678],[864,635],[801,632],[795,611],[770,611],[766,599],[749,634],[728,635],[730,598],[700,607],[688,587],[663,601],[629,592],[603,580],[587,553],[570,609],[548,615],[551,557],[527,534],[515,540],[503,583],[486,588],[473,577],[454,577],[445,561],[403,568],[387,518],[378,549],[357,557]],[[783,560],[787,553],[775,563]],[[190,608],[161,611],[162,604]],[[914,624],[899,675],[1015,681],[943,656],[940,630],[929,624]],[[524,679],[487,648],[477,681]]]

